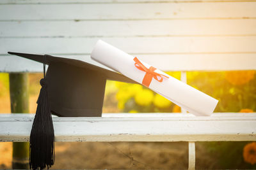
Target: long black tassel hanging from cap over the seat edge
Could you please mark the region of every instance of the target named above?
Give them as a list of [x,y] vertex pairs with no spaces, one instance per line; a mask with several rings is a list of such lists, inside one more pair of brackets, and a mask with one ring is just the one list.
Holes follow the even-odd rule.
[[47,81],[40,80],[42,88],[37,100],[36,115],[31,129],[29,141],[29,167],[30,169],[44,169],[54,164],[54,129],[52,124],[51,108],[48,100]]

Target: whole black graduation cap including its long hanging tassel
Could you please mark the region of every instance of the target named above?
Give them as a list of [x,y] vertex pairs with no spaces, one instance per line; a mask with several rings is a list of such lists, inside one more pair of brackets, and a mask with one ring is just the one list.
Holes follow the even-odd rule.
[[[42,89],[29,140],[29,166],[54,164],[54,129],[51,114],[59,117],[101,117],[106,80],[136,83],[126,76],[72,58],[8,52],[44,64]],[[49,65],[45,74],[45,64]]]

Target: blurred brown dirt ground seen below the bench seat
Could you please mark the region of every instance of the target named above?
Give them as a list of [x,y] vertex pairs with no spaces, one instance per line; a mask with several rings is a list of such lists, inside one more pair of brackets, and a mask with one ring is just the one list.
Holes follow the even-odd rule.
[[[196,168],[214,167],[196,145]],[[0,143],[0,169],[12,168],[12,143]],[[56,143],[51,169],[186,169],[188,143]]]

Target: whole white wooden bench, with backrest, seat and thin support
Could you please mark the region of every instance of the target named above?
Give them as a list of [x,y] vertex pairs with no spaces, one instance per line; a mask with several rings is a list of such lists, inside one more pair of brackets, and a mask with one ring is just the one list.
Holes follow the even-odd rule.
[[[163,71],[256,69],[256,1],[2,0],[0,71],[42,72],[8,51],[73,56],[87,62],[103,39]],[[255,141],[256,113],[111,114],[54,117],[56,141]],[[0,115],[0,141],[28,141],[33,117]]]

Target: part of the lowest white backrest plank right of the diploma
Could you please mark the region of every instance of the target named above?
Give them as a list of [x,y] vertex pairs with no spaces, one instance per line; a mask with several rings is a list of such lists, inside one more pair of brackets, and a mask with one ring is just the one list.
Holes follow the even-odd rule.
[[138,57],[164,71],[256,69],[256,53],[138,55]]

